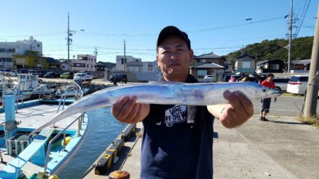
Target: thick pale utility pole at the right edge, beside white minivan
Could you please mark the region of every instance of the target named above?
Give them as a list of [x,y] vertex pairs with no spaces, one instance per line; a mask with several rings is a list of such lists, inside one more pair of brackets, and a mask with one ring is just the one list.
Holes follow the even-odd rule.
[[[319,6],[317,17],[319,17]],[[313,37],[313,52],[311,54],[311,63],[308,79],[308,90],[306,94],[305,117],[313,117],[317,114],[317,97],[318,97],[318,79],[319,79],[319,19],[315,23],[315,36]]]

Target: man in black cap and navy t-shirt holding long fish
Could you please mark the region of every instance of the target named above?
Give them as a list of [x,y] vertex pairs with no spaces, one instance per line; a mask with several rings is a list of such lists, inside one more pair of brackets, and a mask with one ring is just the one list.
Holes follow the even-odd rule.
[[[167,26],[157,38],[161,81],[196,83],[189,74],[194,52],[186,33]],[[237,127],[253,114],[242,93],[226,91],[227,105],[189,106],[135,103],[120,98],[112,113],[121,122],[143,122],[141,178],[213,178],[213,118],[227,128]]]

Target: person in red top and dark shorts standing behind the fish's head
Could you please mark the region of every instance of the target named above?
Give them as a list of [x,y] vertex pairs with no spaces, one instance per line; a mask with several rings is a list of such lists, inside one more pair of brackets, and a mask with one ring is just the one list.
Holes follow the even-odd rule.
[[[272,81],[274,79],[274,74],[268,74],[267,75],[267,79],[265,79],[264,81],[262,81],[262,83],[260,83],[262,86],[266,86],[268,88],[276,88],[274,81]],[[276,102],[277,98],[274,98],[274,102]],[[262,107],[260,110],[260,117],[259,120],[261,121],[268,121],[266,119],[266,115],[267,113],[269,113],[269,108],[270,108],[270,103],[272,102],[272,98],[264,98],[262,99]]]

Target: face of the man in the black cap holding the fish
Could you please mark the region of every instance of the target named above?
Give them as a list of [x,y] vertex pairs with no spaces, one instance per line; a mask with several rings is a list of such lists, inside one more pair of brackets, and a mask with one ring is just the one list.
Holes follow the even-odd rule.
[[164,79],[186,79],[193,55],[193,50],[189,50],[186,42],[180,37],[169,36],[164,39],[157,47],[156,57]]

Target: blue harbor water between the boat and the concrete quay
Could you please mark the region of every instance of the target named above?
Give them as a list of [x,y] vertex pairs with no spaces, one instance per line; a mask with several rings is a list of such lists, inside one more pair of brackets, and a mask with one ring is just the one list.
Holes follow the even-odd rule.
[[111,108],[99,108],[87,112],[89,130],[84,143],[65,169],[60,173],[60,179],[78,179],[84,175],[101,153],[126,127],[126,124],[116,120],[111,114]]

